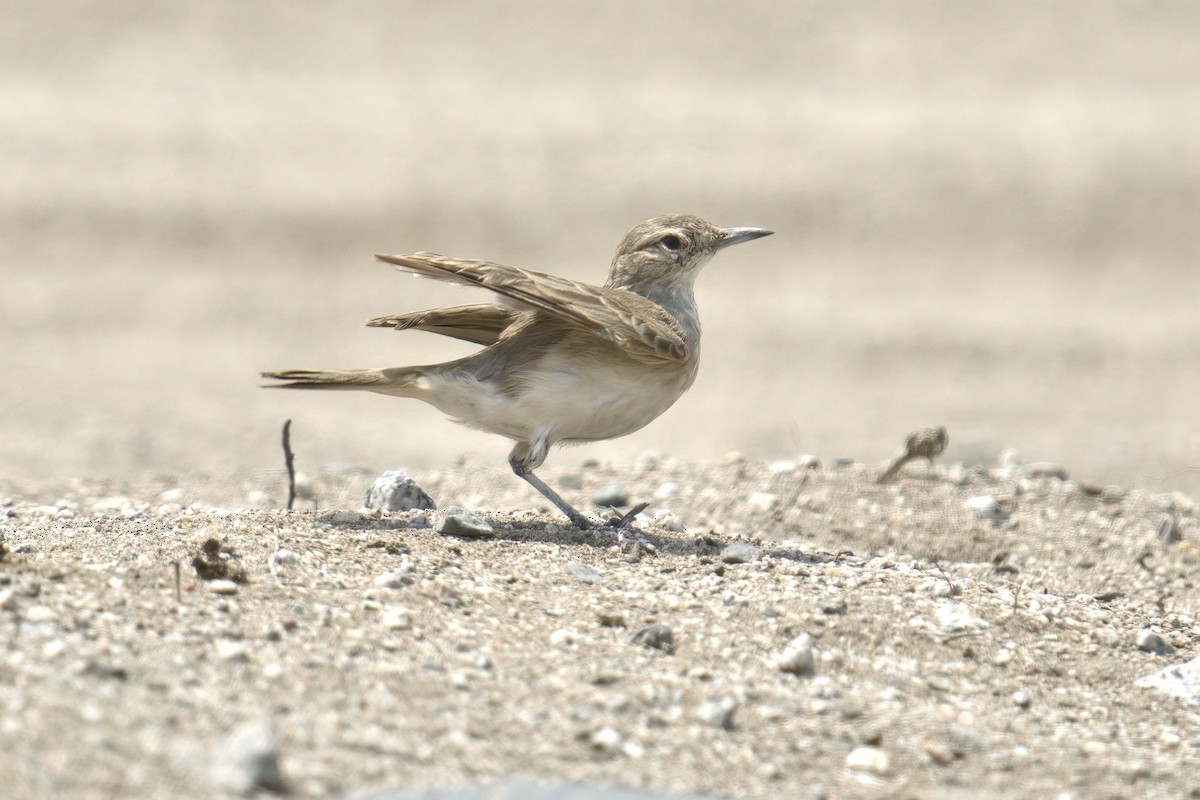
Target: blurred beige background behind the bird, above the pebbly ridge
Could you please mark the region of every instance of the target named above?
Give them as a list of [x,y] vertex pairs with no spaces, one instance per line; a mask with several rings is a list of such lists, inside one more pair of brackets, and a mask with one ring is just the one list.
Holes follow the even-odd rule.
[[0,2],[0,479],[503,468],[416,402],[258,389],[469,345],[374,252],[698,282],[700,379],[563,451],[882,463],[906,432],[1200,494],[1200,5]]

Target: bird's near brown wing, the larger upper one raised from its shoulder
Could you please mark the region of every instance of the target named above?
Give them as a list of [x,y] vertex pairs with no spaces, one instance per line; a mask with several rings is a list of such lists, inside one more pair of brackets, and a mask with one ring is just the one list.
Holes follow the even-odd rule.
[[377,254],[380,261],[422,277],[490,289],[515,308],[552,314],[647,363],[688,357],[683,330],[666,309],[628,289],[595,287],[545,272],[437,253]]

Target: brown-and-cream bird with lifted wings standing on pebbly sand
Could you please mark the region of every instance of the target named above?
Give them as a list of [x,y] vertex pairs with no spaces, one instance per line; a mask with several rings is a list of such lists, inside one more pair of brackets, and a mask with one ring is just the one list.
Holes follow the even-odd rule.
[[412,397],[512,439],[512,473],[588,529],[592,522],[534,470],[554,445],[626,435],[674,404],[700,366],[696,276],[719,251],[773,233],[658,216],[625,235],[604,285],[437,253],[377,253],[403,272],[492,291],[496,302],[378,317],[368,326],[428,331],[484,349],[427,366],[260,375],[274,389]]

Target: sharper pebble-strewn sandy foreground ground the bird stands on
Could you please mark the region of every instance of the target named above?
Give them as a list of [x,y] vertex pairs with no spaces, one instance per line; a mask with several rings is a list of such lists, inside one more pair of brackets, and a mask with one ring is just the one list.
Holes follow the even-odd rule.
[[[346,475],[307,483],[329,511],[186,485],[0,497],[0,776],[20,798],[1200,790],[1196,705],[1136,685],[1200,645],[1195,503],[1015,467],[877,474],[550,475],[581,504],[614,481],[649,499],[650,548],[541,503],[498,513],[528,489],[482,469],[421,483],[485,539],[349,511]],[[241,765],[254,741],[277,772]]]

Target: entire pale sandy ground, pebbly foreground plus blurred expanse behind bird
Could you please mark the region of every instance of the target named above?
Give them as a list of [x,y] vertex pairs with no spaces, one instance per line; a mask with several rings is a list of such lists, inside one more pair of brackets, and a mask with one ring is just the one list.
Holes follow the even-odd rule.
[[[29,742],[10,763],[20,786],[200,793],[206,778],[178,783],[196,774],[184,751],[209,752],[229,726],[265,716],[292,790],[310,796],[508,774],[737,796],[806,796],[815,783],[832,796],[954,795],[955,781],[996,796],[1194,788],[1183,777],[1194,717],[1130,688],[1164,658],[1130,642],[1159,626],[1172,658],[1194,649],[1180,615],[1195,597],[1187,570],[1172,570],[1189,563],[1187,498],[1200,497],[1200,7],[10,5],[0,494],[13,553],[0,593],[12,603],[4,724]],[[403,278],[373,252],[432,249],[599,282],[625,230],[668,211],[776,235],[701,276],[704,359],[689,395],[642,432],[556,452],[546,468],[581,487],[568,489],[577,503],[601,474],[642,495],[664,482],[691,492],[664,497],[686,530],[655,534],[658,557],[628,564],[544,517],[493,517],[514,530],[466,547],[403,521],[319,516],[356,509],[391,468],[416,475],[443,509],[486,516],[536,501],[500,471],[508,443],[432,409],[258,389],[260,369],[467,351],[360,326],[481,300]],[[318,516],[270,511],[286,419]],[[876,470],[928,425],[948,427],[943,463],[960,473],[898,495],[833,469],[850,458]],[[1072,482],[1016,498],[1016,479],[962,477],[997,469],[1008,449],[1062,464]],[[731,451],[748,458],[746,476],[720,473]],[[642,473],[652,452],[678,459],[670,476]],[[836,495],[821,521],[763,473],[799,453],[829,470],[810,479]],[[706,489],[715,494],[701,501]],[[778,519],[738,505],[756,492],[779,495]],[[1016,498],[1020,525],[964,517],[967,495],[985,494]],[[125,500],[104,505],[114,495]],[[920,511],[907,517],[900,497]],[[1156,539],[1164,515],[1183,521],[1182,539]],[[718,542],[762,537],[773,554],[713,577],[709,528]],[[230,599],[185,576],[179,601],[169,565],[186,565],[210,531],[253,579]],[[1043,545],[1016,577],[994,563]],[[300,554],[293,577],[271,571],[281,548]],[[841,548],[862,563],[836,558]],[[1139,566],[1146,548],[1162,560]],[[364,593],[406,549],[419,579],[370,602],[431,616],[380,632],[383,612]],[[1110,591],[1097,583],[1108,572],[1081,566],[1110,558],[1120,597],[1080,599]],[[932,559],[964,595],[937,595]],[[686,644],[662,660],[630,650],[628,630],[595,627],[590,595],[562,572],[574,560],[602,573],[589,591],[626,607],[630,627],[678,612]],[[870,579],[854,577],[871,564]],[[481,616],[439,606],[431,582],[461,583],[474,599],[463,608]],[[881,594],[844,615],[811,610],[817,593],[862,594],[864,583]],[[1030,610],[1040,593],[1052,613]],[[743,596],[756,610],[734,618]],[[887,604],[894,597],[902,608]],[[989,621],[978,643],[914,633],[910,621],[936,616],[942,601]],[[44,621],[28,621],[31,606],[48,609],[35,613]],[[1049,627],[1030,621],[1038,614]],[[311,648],[270,638],[293,624]],[[698,644],[708,625],[721,632]],[[560,628],[587,642],[547,645]],[[140,640],[145,631],[154,638]],[[772,670],[802,631],[827,654],[818,678],[845,669],[858,688]],[[214,655],[224,639],[250,642],[247,660]],[[527,644],[514,669],[500,651]],[[1030,648],[1043,648],[1032,664],[1021,661]],[[1003,649],[1016,655],[997,666]],[[481,652],[492,672],[463,666]],[[868,654],[894,661],[874,674]],[[364,672],[343,672],[360,657]],[[596,682],[608,660],[617,690]],[[953,680],[934,682],[950,681],[949,693],[912,688],[946,669]],[[416,681],[406,697],[428,706],[396,710],[397,672]],[[1020,714],[1014,691],[1034,698]],[[964,694],[966,716],[938,716]],[[697,704],[722,698],[738,703],[733,730],[695,728]],[[917,732],[917,718],[944,735]],[[910,733],[876,742],[892,758],[882,784],[838,771],[893,722]],[[515,733],[532,728],[550,733],[529,752]],[[606,728],[629,747],[598,752],[589,736]],[[946,733],[973,728],[986,741]],[[1104,744],[1076,746],[1085,733]],[[480,740],[499,742],[482,765],[467,757]],[[1039,760],[1046,752],[1063,770]]]

